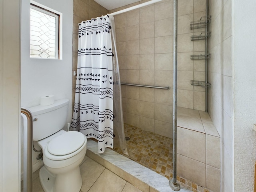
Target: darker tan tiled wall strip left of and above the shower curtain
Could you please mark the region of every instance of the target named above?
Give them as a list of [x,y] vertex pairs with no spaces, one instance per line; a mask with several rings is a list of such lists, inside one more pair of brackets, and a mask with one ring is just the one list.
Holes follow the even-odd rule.
[[[77,68],[78,23],[108,14],[108,10],[94,0],[74,0],[73,8],[73,72]],[[72,108],[74,107],[76,76],[72,78]]]

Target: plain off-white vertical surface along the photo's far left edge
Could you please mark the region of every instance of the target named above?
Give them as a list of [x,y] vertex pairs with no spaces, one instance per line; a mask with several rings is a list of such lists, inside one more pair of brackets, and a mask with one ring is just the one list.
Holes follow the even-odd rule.
[[0,191],[20,191],[20,0],[0,0]]

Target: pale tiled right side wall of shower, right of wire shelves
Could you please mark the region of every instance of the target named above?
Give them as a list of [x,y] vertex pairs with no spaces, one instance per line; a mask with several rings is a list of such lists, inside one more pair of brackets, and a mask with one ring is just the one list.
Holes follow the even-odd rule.
[[232,192],[233,174],[233,96],[232,96],[232,0],[209,0],[212,20],[209,31],[208,63],[209,114],[221,138],[221,192]]

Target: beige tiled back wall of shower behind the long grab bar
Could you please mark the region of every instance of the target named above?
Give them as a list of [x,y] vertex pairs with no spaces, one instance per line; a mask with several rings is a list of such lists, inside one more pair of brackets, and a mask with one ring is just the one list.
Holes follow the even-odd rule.
[[[204,29],[190,30],[190,21],[205,10],[205,0],[178,1],[178,106],[196,110],[205,110],[205,90],[190,80],[204,81],[205,66],[190,55],[204,53],[205,44],[190,36]],[[115,27],[121,82],[172,88],[172,0],[116,15]],[[124,122],[172,138],[172,89],[122,86],[122,101]]]

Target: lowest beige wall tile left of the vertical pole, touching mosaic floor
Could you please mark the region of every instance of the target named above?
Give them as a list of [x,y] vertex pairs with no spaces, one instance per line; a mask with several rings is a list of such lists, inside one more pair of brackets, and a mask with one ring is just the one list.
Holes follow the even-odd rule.
[[155,133],[172,138],[172,124],[155,120]]

